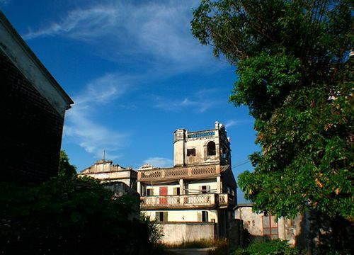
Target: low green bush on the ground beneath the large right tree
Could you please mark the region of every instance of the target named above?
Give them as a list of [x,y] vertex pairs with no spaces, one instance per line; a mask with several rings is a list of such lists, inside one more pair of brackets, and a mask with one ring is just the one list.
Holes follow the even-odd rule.
[[291,248],[286,241],[276,239],[268,242],[253,242],[245,249],[236,249],[230,255],[297,255],[299,251]]

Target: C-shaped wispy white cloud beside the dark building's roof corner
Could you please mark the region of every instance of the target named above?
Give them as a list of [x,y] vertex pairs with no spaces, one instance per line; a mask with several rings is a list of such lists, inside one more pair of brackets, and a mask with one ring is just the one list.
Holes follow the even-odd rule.
[[73,108],[67,111],[64,135],[95,157],[101,157],[103,150],[108,151],[110,159],[119,157],[117,153],[130,134],[107,128],[108,125],[95,121],[95,115],[101,106],[131,89],[130,80],[130,77],[105,74],[87,84],[74,98]]

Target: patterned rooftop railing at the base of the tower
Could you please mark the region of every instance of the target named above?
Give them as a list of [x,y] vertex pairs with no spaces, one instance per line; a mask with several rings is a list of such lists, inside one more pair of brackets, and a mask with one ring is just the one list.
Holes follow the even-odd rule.
[[197,176],[217,176],[219,166],[175,167],[171,169],[149,169],[138,171],[138,181],[162,181],[166,179],[185,179]]

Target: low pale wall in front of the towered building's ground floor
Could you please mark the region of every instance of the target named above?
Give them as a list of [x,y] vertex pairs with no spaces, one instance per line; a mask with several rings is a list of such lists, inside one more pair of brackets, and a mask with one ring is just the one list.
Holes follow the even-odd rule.
[[200,239],[215,239],[214,222],[160,222],[164,244],[181,244]]

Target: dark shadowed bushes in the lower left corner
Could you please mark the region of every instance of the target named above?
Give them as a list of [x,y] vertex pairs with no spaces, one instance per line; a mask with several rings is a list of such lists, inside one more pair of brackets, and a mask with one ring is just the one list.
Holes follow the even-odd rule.
[[0,183],[1,254],[148,254],[137,198],[113,198],[92,179]]

